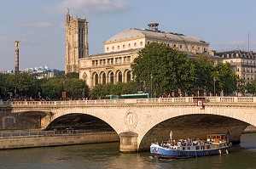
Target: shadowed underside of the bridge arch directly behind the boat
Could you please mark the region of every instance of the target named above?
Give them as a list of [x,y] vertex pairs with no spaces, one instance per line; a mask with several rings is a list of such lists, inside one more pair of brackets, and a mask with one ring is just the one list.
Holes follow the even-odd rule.
[[[230,140],[237,141],[241,132],[248,126],[247,122],[239,121],[223,115],[192,114],[179,115],[161,121],[152,127],[142,138],[139,150],[148,149],[154,140],[168,141],[172,131],[173,139],[201,138],[206,139],[209,133],[231,133]],[[239,137],[238,137],[239,136]]]

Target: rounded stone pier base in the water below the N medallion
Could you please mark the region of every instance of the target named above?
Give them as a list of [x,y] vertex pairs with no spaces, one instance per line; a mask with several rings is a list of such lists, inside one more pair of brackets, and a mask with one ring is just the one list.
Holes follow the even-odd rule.
[[121,152],[137,152],[137,137],[136,132],[121,132],[120,137],[120,147]]

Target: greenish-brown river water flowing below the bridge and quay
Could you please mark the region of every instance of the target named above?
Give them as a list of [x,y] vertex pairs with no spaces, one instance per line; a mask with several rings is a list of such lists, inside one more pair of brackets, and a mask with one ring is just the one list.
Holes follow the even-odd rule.
[[241,144],[232,146],[229,155],[186,160],[157,160],[148,152],[119,153],[119,143],[83,144],[60,147],[0,150],[0,168],[255,168],[256,133],[241,135]]

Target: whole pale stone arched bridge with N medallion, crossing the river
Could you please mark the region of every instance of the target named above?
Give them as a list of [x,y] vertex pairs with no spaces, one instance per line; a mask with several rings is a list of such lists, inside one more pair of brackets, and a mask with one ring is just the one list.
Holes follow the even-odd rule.
[[42,129],[64,116],[69,121],[68,115],[95,117],[119,135],[120,151],[148,149],[154,139],[168,140],[171,130],[174,139],[229,132],[230,140],[239,142],[248,125],[256,127],[256,97],[2,102],[0,112],[2,128],[24,120],[22,115],[33,116]]

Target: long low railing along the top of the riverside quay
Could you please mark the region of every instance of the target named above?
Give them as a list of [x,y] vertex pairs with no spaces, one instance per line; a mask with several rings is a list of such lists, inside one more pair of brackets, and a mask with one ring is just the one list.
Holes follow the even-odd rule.
[[60,136],[70,134],[87,134],[95,132],[114,132],[111,128],[95,129],[95,130],[57,130],[57,131],[31,131],[31,132],[0,132],[1,138],[29,138],[44,136]]

